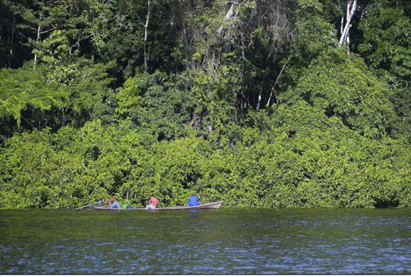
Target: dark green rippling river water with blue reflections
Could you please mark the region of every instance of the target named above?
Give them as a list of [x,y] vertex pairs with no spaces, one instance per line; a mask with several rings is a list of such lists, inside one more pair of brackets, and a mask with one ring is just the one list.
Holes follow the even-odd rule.
[[411,274],[411,209],[0,210],[3,274]]

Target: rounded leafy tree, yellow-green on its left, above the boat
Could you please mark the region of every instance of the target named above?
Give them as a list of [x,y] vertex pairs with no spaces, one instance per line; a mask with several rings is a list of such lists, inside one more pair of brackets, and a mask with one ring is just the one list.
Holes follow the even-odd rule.
[[117,94],[116,108],[124,118],[151,130],[159,140],[174,138],[189,125],[195,102],[187,93],[187,75],[170,75],[157,71],[129,78]]

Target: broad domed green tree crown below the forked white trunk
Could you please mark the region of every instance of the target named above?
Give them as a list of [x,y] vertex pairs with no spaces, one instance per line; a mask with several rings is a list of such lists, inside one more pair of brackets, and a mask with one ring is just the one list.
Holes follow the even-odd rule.
[[340,116],[347,126],[365,136],[377,137],[389,132],[396,119],[389,93],[367,72],[361,58],[336,50],[314,60],[295,90],[282,97],[288,102],[305,100],[328,116]]

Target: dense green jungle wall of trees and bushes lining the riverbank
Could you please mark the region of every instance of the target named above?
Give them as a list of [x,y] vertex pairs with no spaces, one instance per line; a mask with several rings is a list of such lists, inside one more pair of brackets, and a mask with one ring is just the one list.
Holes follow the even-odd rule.
[[0,0],[0,208],[411,206],[411,3]]

